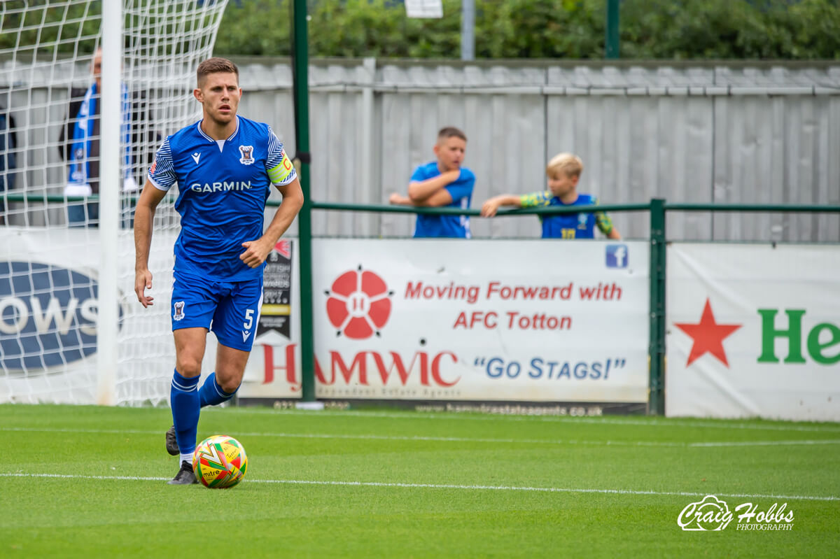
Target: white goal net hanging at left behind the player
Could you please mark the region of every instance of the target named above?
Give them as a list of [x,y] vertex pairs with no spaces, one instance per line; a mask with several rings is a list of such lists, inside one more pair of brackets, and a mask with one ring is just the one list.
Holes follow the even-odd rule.
[[[0,3],[0,403],[94,403],[99,344],[117,346],[117,404],[169,394],[176,192],[155,215],[148,309],[134,295],[134,203],[162,140],[200,118],[195,69],[227,0],[122,4],[121,110],[101,119],[101,0]],[[118,184],[99,180],[108,118],[120,121]],[[99,219],[105,189],[119,192],[116,228]],[[102,240],[114,237],[118,258],[102,264]],[[99,279],[114,273],[118,327],[97,332]]]

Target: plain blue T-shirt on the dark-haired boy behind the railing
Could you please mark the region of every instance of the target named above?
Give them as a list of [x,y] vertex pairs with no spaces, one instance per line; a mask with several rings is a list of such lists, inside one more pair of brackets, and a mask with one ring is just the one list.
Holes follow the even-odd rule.
[[[440,175],[438,162],[433,161],[426,165],[420,165],[412,173],[412,182],[433,179]],[[472,200],[472,189],[475,185],[475,175],[466,167],[461,167],[461,174],[457,180],[444,186],[444,189],[452,196],[452,203],[444,207],[460,207],[467,209]],[[470,238],[470,217],[469,216],[425,216],[417,214],[417,223],[414,226],[414,237],[455,237]]]

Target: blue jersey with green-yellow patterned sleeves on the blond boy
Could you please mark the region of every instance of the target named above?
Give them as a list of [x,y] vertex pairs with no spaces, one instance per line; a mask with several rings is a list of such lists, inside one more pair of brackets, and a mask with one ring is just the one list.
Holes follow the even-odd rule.
[[[534,192],[520,196],[522,207],[540,206],[590,206],[598,203],[598,199],[591,194],[579,194],[577,200],[571,204],[564,204],[550,191]],[[595,238],[595,227],[602,233],[609,235],[612,231],[612,220],[604,212],[594,213],[561,213],[555,216],[539,216],[543,224],[543,238]]]

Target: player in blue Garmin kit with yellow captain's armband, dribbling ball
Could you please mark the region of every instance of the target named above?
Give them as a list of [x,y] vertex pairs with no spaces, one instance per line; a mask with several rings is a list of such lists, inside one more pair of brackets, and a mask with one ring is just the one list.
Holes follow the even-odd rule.
[[[265,259],[303,204],[297,173],[265,123],[237,115],[242,90],[230,60],[197,69],[194,97],[202,120],[165,139],[150,167],[134,214],[134,290],[153,297],[148,268],[155,208],[173,185],[181,215],[175,243],[171,323],[176,366],[171,384],[173,426],[166,450],[181,457],[169,483],[197,483],[192,472],[200,410],[230,400],[242,382],[262,305]],[[274,185],[283,201],[264,231],[265,201]],[[207,332],[218,338],[216,367],[199,388]]]

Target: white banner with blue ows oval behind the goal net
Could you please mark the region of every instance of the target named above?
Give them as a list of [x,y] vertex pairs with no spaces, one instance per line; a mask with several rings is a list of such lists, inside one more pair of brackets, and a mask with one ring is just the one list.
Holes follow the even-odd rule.
[[[118,232],[118,403],[159,404],[169,394],[175,237],[155,232],[155,304],[144,309],[134,295],[134,233]],[[0,227],[0,403],[96,402],[99,245],[95,228]],[[208,342],[214,353],[215,338]]]

